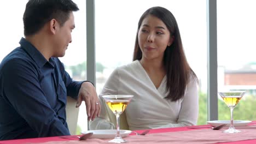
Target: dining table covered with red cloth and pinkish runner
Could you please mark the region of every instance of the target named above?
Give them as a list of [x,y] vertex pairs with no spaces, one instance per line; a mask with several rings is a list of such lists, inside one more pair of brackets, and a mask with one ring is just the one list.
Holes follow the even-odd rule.
[[[223,130],[228,127],[224,127],[219,130],[212,130],[211,128],[196,128],[210,125],[194,125],[190,127],[175,127],[175,128],[161,128],[150,129],[146,135],[136,135],[131,133],[127,137],[124,137],[127,143],[222,143],[222,144],[255,144],[256,143],[256,121],[249,123],[243,127],[237,127],[241,130],[240,133],[226,134]],[[137,133],[142,133],[145,130],[135,130]],[[79,136],[79,135],[78,135]],[[0,144],[79,144],[79,143],[108,143],[111,139],[87,139],[79,141],[76,137],[70,137],[69,139],[62,139],[60,136],[53,137],[39,137],[33,139],[17,139],[17,140],[4,140],[0,141]]]

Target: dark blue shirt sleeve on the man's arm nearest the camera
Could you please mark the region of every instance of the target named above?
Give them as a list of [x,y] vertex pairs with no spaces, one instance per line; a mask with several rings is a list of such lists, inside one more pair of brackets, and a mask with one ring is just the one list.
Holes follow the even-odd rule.
[[24,59],[11,59],[3,68],[4,97],[39,137],[70,135],[40,88],[39,73]]

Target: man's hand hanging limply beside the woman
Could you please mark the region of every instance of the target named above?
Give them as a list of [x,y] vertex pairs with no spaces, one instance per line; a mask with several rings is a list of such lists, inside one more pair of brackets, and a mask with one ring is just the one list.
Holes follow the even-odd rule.
[[94,118],[100,115],[101,105],[98,100],[98,95],[95,87],[90,82],[83,82],[78,93],[77,106],[79,107],[82,101],[85,101],[88,121],[93,121]]

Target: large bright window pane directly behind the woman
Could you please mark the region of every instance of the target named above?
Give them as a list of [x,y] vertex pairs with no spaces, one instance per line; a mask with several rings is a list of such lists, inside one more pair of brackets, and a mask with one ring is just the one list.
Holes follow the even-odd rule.
[[200,80],[198,124],[205,124],[207,121],[206,1],[95,1],[96,63],[98,63],[96,69],[101,67],[96,72],[97,93],[100,94],[104,83],[115,68],[132,62],[139,17],[154,6],[165,7],[176,17],[188,62]]

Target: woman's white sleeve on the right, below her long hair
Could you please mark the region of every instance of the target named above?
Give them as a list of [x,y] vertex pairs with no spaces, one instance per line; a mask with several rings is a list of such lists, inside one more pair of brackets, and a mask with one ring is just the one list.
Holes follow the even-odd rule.
[[171,127],[185,127],[189,125],[196,125],[199,115],[199,95],[197,89],[197,82],[190,76],[190,81],[187,85],[185,95],[182,101],[181,111],[177,123],[162,125],[158,128],[171,128]]

